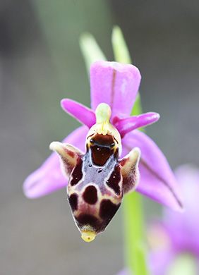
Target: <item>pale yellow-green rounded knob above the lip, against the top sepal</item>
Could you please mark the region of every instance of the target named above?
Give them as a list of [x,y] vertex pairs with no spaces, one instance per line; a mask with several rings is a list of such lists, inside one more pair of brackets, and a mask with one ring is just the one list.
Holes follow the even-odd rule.
[[100,103],[95,111],[97,123],[109,123],[111,117],[111,108],[106,103]]

